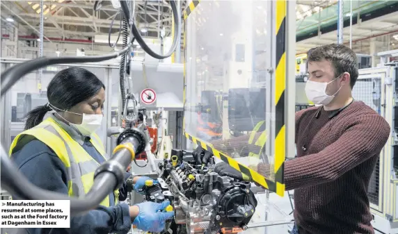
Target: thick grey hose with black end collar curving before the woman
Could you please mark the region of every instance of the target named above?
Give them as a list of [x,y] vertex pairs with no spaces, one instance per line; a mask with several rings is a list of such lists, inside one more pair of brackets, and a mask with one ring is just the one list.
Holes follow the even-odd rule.
[[[145,137],[141,131],[129,130],[120,142],[132,144],[133,151],[139,154],[145,146]],[[70,200],[70,215],[81,215],[88,210],[97,208],[98,204],[105,199],[113,190],[118,189],[124,179],[125,169],[130,165],[134,156],[129,149],[120,149],[113,154],[112,158],[104,162],[94,174],[93,187],[83,197],[69,197],[67,194],[43,190],[33,185],[17,170],[13,162],[8,158],[3,147],[0,148],[0,179],[1,187],[6,189],[16,199],[24,200]]]

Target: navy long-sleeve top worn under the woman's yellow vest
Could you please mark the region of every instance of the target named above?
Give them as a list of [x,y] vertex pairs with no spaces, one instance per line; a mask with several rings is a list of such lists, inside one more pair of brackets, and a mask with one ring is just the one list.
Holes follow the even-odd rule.
[[[57,121],[59,123],[59,120]],[[65,126],[63,126],[65,127]],[[67,128],[67,127],[65,127]],[[65,129],[64,128],[64,129]],[[70,129],[68,129],[70,130]],[[68,131],[70,133],[70,131]],[[71,135],[72,134],[72,135]],[[104,162],[104,158],[90,143],[88,137],[77,139],[74,133],[70,135],[77,140],[83,149],[92,156],[97,162]],[[67,194],[67,171],[65,165],[58,156],[46,144],[39,140],[31,140],[22,149],[13,153],[11,157],[17,168],[26,178],[34,185],[45,190],[54,192],[61,192]],[[126,178],[129,174],[126,173]],[[127,188],[123,185],[120,188],[120,200],[127,197]],[[125,203],[120,203],[115,206],[114,195],[109,194],[111,206],[109,208],[99,206],[96,210],[90,210],[86,215],[79,217],[71,217],[70,228],[61,229],[54,228],[51,234],[61,233],[127,233],[132,221],[129,216],[129,206]],[[27,233],[42,234],[49,233],[50,228],[28,228]]]

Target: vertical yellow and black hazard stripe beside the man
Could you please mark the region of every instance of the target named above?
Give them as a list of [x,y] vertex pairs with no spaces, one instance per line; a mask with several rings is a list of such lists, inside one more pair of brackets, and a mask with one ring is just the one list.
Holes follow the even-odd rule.
[[287,0],[276,1],[276,72],[275,72],[275,183],[276,193],[283,196],[283,164],[285,162],[285,89],[286,89],[286,12]]

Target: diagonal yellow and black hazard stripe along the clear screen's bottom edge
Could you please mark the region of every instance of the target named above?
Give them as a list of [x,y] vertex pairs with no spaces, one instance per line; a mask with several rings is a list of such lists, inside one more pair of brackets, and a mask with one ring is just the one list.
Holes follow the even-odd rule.
[[262,185],[262,187],[265,187],[267,190],[276,192],[277,188],[276,188],[275,182],[270,181],[268,178],[265,178],[264,176],[262,176],[255,170],[250,169],[250,168],[246,167],[245,165],[241,165],[239,162],[237,162],[237,160],[234,160],[230,156],[225,155],[225,153],[215,149],[212,146],[212,144],[209,144],[207,142],[199,140],[198,138],[193,137],[192,135],[189,135],[188,133],[184,133],[184,134],[187,139],[191,140],[195,144],[200,145],[200,147],[202,147],[206,151],[209,151],[210,153],[212,153],[214,156],[216,156],[216,158],[219,158],[219,159],[223,160],[223,162],[228,163],[228,165],[230,165],[234,169],[237,169],[239,172],[246,174],[246,176],[248,176],[255,183]]

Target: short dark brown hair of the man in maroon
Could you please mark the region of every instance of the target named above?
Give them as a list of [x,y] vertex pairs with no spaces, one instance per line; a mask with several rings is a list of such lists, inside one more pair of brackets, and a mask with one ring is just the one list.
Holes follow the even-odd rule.
[[328,60],[335,69],[335,77],[344,72],[350,74],[351,89],[358,78],[358,59],[349,47],[344,44],[326,44],[308,51],[308,62],[318,62]]

